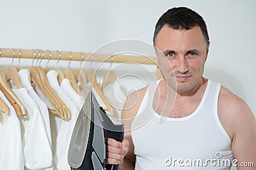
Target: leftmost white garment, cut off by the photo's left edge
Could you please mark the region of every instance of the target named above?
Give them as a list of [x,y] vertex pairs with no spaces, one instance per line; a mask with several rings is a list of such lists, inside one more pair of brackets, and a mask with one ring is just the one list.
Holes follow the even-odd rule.
[[[10,115],[3,114],[0,123],[0,169],[24,169],[20,122],[13,106],[0,90],[0,97],[10,109]],[[4,129],[4,131],[2,131]]]

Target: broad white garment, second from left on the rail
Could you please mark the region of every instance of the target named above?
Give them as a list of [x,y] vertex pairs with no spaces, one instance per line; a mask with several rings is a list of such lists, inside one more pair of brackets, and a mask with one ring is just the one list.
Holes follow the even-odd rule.
[[24,104],[28,117],[19,117],[24,153],[24,166],[28,169],[40,169],[52,165],[51,146],[45,129],[44,119],[35,101],[26,88],[14,89],[13,92]]

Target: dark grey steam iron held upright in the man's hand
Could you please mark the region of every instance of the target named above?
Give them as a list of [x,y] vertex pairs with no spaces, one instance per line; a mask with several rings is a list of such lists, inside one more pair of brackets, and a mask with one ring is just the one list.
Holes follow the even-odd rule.
[[[103,170],[106,160],[106,138],[122,142],[124,125],[114,125],[106,112],[89,92],[74,127],[68,148],[71,169]],[[107,170],[117,170],[118,165],[108,164]]]

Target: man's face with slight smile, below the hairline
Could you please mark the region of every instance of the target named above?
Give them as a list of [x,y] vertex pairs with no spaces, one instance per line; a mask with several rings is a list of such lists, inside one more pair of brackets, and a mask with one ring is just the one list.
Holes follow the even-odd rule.
[[189,92],[198,85],[209,49],[200,27],[175,30],[164,25],[155,45],[164,53],[156,50],[164,79],[172,89],[177,88],[177,92],[181,93]]

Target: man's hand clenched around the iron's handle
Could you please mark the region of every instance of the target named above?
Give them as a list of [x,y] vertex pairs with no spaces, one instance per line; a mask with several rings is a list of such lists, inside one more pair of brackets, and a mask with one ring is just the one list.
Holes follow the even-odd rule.
[[106,164],[120,164],[129,151],[129,141],[124,139],[121,142],[115,139],[107,139]]

